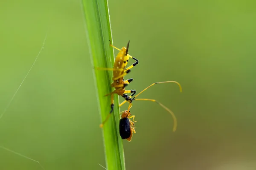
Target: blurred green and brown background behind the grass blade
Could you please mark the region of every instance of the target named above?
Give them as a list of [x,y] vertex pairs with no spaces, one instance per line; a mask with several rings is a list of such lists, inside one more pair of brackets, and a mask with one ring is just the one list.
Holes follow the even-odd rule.
[[[114,45],[140,63],[127,170],[255,170],[256,2],[109,0]],[[102,131],[79,0],[0,2],[0,145],[46,170],[103,170]],[[115,51],[117,54],[117,51]],[[121,99],[122,101],[122,99]],[[127,105],[121,108],[125,110]],[[106,108],[108,111],[109,108]],[[40,170],[0,149],[0,170]]]

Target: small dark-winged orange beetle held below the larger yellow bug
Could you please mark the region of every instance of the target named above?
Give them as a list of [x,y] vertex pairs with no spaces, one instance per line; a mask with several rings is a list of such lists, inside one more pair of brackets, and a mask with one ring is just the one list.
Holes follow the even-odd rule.
[[[126,110],[123,111],[121,119],[119,121],[119,134],[122,139],[126,139],[129,142],[131,141],[133,133],[136,133],[134,122],[137,121],[134,120],[134,117],[135,116],[131,116],[130,111]],[[131,118],[133,118],[132,121]]]

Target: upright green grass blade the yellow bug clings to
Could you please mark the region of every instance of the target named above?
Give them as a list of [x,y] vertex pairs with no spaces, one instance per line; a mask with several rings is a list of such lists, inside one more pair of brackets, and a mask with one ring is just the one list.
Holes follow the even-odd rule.
[[[90,56],[93,67],[113,68],[113,48],[109,45],[112,41],[110,18],[107,0],[82,0],[84,16],[87,26]],[[99,102],[101,121],[110,111],[110,96],[104,96],[111,92],[112,71],[99,71],[94,69],[96,91]],[[115,107],[111,118],[103,127],[103,139],[105,144],[105,158],[108,170],[125,170],[125,159],[122,139],[119,136],[119,100],[115,95]]]

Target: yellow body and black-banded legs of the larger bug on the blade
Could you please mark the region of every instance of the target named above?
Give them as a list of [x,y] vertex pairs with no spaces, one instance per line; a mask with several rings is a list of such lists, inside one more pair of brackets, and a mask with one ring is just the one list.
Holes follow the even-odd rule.
[[[129,44],[130,44],[130,41],[128,41],[126,48],[122,47],[121,49],[119,49],[119,48],[116,48],[115,46],[111,45],[111,41],[110,41],[109,45],[111,47],[119,50],[119,53],[117,54],[115,62],[114,62],[114,66],[113,66],[113,68],[98,68],[99,70],[113,71],[113,78],[112,78],[113,83],[111,84],[111,87],[115,88],[115,90],[112,91],[110,94],[105,95],[105,96],[111,95],[111,111],[109,112],[106,119],[102,122],[100,127],[103,127],[103,125],[105,124],[105,122],[107,122],[107,120],[111,116],[111,113],[113,112],[114,94],[118,94],[119,96],[122,96],[125,100],[128,100],[128,95],[126,95],[125,93],[132,93],[131,96],[133,96],[136,93],[135,90],[125,90],[125,87],[130,82],[132,82],[133,79],[131,78],[131,79],[124,80],[124,76],[131,71],[130,70],[131,68],[133,68],[135,65],[137,65],[139,63],[139,61],[136,58],[134,58],[128,54]],[[134,59],[136,62],[134,62],[128,68],[125,68],[125,66],[128,63],[129,58]]]

